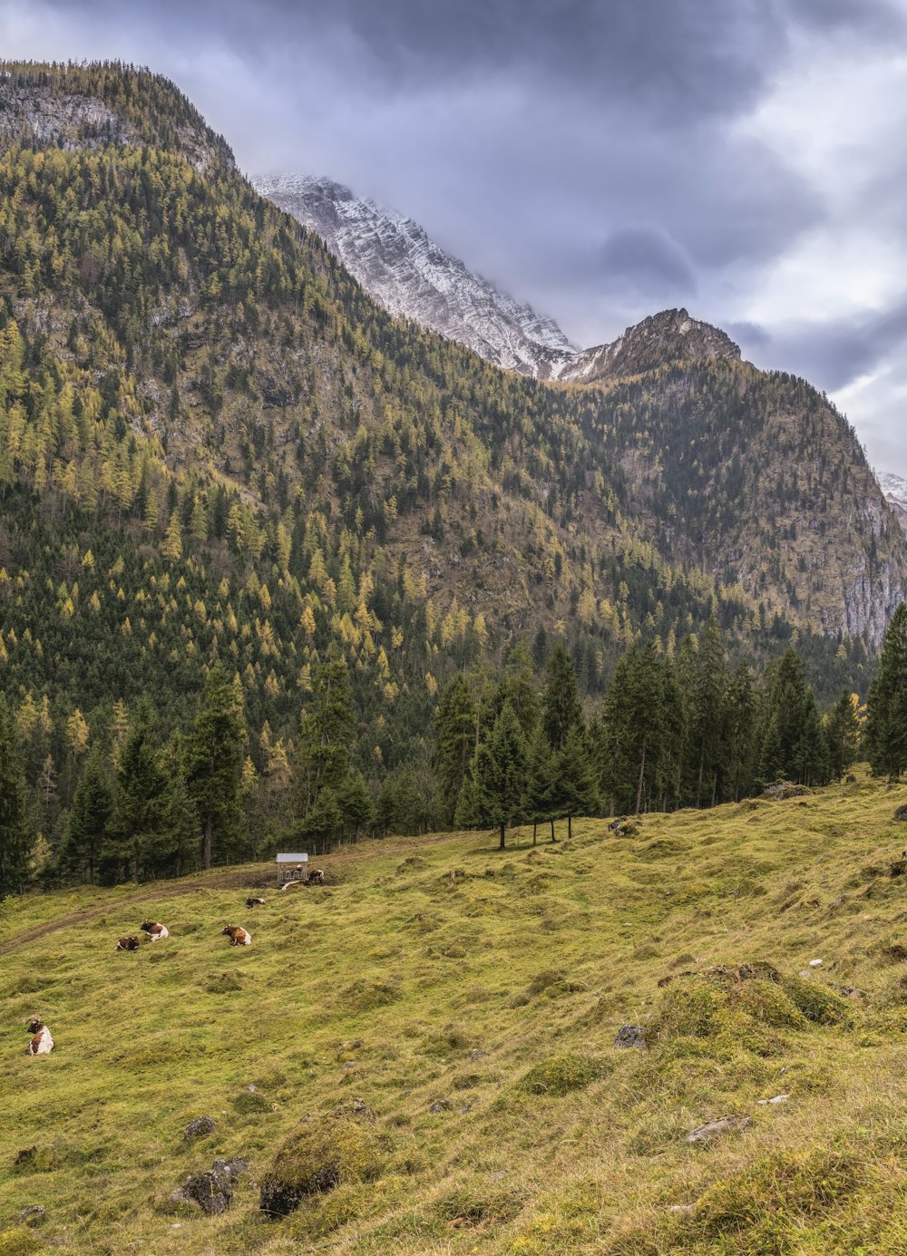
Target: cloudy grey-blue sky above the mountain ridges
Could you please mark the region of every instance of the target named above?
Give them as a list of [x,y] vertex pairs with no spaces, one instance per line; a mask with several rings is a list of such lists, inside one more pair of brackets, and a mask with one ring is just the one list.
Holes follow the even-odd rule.
[[0,48],[168,74],[579,344],[686,305],[907,476],[907,0],[0,0]]

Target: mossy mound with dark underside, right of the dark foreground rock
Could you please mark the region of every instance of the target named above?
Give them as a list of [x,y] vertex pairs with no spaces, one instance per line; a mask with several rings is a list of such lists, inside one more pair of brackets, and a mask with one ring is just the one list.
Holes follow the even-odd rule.
[[368,1127],[348,1118],[304,1120],[281,1144],[261,1181],[261,1211],[285,1217],[313,1194],[381,1172],[379,1148]]

